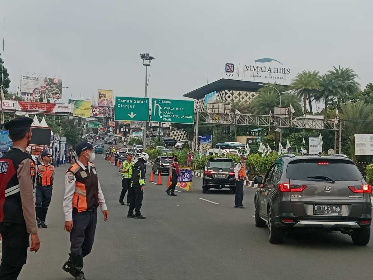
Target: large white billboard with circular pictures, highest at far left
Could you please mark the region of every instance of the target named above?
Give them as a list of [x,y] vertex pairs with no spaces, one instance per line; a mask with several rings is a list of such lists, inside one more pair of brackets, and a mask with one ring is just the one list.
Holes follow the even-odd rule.
[[58,100],[61,99],[61,94],[61,79],[33,76],[22,76],[21,78],[21,96],[25,101],[39,101],[41,95]]

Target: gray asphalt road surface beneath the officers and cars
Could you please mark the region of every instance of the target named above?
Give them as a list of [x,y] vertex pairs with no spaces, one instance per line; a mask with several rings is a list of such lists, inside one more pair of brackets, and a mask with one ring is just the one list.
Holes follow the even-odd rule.
[[[19,279],[72,279],[62,270],[68,258],[69,234],[63,231],[64,174],[57,168],[53,197],[41,228],[41,248],[29,253]],[[372,242],[355,246],[341,233],[291,234],[280,245],[268,242],[267,228],[254,225],[253,194],[245,187],[244,205],[236,209],[228,191],[202,194],[201,178],[193,192],[164,192],[147,183],[141,212],[144,220],[126,218],[128,206],[118,202],[118,169],[95,159],[110,217],[99,211],[93,251],[84,258],[87,280],[93,279],[370,279]],[[150,166],[147,181],[150,178]],[[201,200],[200,198],[210,200]],[[219,204],[216,204],[219,203]]]

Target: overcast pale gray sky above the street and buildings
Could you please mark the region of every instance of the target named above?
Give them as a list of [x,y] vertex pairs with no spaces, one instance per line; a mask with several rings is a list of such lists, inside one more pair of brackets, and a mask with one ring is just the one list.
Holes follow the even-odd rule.
[[[97,100],[97,89],[149,97],[182,95],[223,77],[225,63],[271,57],[291,69],[353,68],[373,82],[372,0],[2,0],[0,37],[10,90],[20,74],[60,76],[63,101]],[[241,66],[242,67],[242,66]]]

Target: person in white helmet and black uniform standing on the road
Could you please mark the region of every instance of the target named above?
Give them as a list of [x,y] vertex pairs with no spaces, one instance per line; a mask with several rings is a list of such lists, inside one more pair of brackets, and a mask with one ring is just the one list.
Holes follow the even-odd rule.
[[[131,204],[129,205],[127,218],[145,219],[141,215],[142,198],[145,189],[145,172],[148,155],[140,153],[138,161],[132,167],[132,182],[131,182]],[[135,209],[135,215],[134,215]]]

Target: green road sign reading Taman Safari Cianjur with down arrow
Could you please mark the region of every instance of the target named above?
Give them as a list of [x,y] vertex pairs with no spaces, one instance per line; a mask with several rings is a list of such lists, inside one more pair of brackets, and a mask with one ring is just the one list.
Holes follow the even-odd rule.
[[149,98],[115,97],[116,121],[149,121]]

